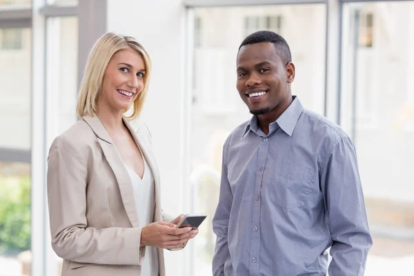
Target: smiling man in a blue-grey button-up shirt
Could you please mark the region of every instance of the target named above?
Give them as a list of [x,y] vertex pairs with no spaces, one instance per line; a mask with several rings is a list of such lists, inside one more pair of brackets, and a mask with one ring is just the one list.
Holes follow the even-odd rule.
[[303,108],[293,79],[279,34],[244,39],[237,90],[253,117],[224,143],[215,276],[364,275],[372,239],[353,141]]

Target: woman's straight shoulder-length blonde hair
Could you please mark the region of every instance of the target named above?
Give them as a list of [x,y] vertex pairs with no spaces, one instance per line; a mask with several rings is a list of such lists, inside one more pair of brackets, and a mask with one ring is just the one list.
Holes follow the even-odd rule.
[[[141,54],[144,58],[146,74],[144,75],[144,89],[139,93],[137,99],[132,103],[134,108],[128,119],[136,119],[144,106],[148,85],[150,83],[151,60],[143,46],[133,37],[124,37],[120,34],[108,32],[93,46],[89,53],[88,61],[86,61],[85,72],[79,89],[77,115],[83,117],[85,115],[95,116],[97,112],[97,98],[102,88],[103,75],[106,67],[115,52],[132,48]],[[130,108],[128,108],[129,110]],[[126,111],[128,111],[126,110]]]

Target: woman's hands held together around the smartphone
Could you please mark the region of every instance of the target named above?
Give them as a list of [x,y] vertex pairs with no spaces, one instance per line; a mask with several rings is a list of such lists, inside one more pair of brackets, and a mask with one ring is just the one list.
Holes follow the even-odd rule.
[[175,226],[164,221],[156,221],[144,226],[141,230],[141,246],[179,248],[188,239],[197,235],[194,233],[196,230],[191,230],[191,227],[175,228]]

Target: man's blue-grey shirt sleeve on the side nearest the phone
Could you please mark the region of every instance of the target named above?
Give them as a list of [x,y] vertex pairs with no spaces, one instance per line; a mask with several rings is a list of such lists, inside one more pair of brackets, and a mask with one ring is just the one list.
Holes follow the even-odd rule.
[[224,276],[233,274],[231,265],[230,252],[228,250],[228,221],[230,210],[233,204],[233,193],[230,189],[230,183],[227,177],[226,166],[226,144],[223,149],[223,162],[221,165],[221,183],[219,204],[213,218],[213,230],[217,235],[215,253],[213,256],[213,275]]

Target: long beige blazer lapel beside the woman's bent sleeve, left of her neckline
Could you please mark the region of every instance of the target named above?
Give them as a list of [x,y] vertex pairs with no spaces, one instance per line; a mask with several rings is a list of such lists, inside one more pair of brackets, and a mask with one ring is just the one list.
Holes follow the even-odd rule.
[[103,155],[105,155],[106,161],[108,161],[108,164],[117,179],[126,215],[128,215],[132,227],[138,227],[138,214],[135,205],[134,190],[132,189],[132,182],[121,155],[119,155],[117,148],[98,117],[84,116],[82,119],[86,121],[93,132],[95,132],[95,135],[97,135]]

